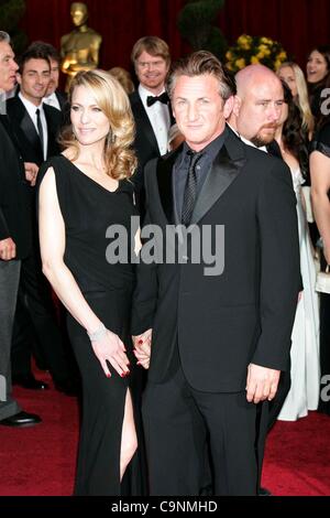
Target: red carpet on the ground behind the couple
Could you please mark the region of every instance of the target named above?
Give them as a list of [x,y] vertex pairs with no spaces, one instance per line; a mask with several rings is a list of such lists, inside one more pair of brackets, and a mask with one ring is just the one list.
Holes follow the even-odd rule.
[[[53,389],[15,388],[14,393],[43,423],[20,430],[0,427],[0,495],[70,495],[78,439],[76,399]],[[294,423],[277,422],[263,474],[263,485],[274,495],[330,495],[330,418],[310,412]]]

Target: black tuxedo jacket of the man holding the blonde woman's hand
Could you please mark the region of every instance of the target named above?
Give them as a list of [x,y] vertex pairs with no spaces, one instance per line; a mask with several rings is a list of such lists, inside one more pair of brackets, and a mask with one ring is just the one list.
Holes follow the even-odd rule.
[[[178,153],[151,162],[145,171],[146,224],[163,233],[178,223],[172,185]],[[288,168],[228,130],[191,223],[200,231],[202,225],[212,229],[213,247],[216,225],[224,226],[223,272],[206,276],[210,265],[202,253],[199,263],[141,261],[132,334],[153,328],[151,382],[164,380],[177,343],[191,387],[244,390],[250,363],[280,370],[288,365],[299,291],[296,197]]]

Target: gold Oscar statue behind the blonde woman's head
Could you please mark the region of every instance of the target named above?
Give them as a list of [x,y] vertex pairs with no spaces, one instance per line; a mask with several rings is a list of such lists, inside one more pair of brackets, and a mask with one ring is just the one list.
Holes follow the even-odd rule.
[[86,24],[88,19],[86,3],[72,3],[70,15],[76,29],[61,39],[63,58],[61,68],[64,74],[68,75],[66,90],[69,88],[72,78],[79,71],[97,68],[102,42],[101,35]]

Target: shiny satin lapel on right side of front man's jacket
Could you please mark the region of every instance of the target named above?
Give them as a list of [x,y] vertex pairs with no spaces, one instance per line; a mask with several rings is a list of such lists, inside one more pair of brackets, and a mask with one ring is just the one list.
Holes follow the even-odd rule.
[[228,128],[228,137],[219,151],[196,202],[191,224],[198,223],[223,195],[245,163],[244,144]]

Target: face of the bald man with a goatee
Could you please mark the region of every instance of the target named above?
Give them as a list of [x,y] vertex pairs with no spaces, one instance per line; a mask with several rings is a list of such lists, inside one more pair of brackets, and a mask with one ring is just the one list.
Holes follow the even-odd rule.
[[238,131],[261,148],[274,140],[284,102],[278,78],[255,80],[246,88],[238,114]]

